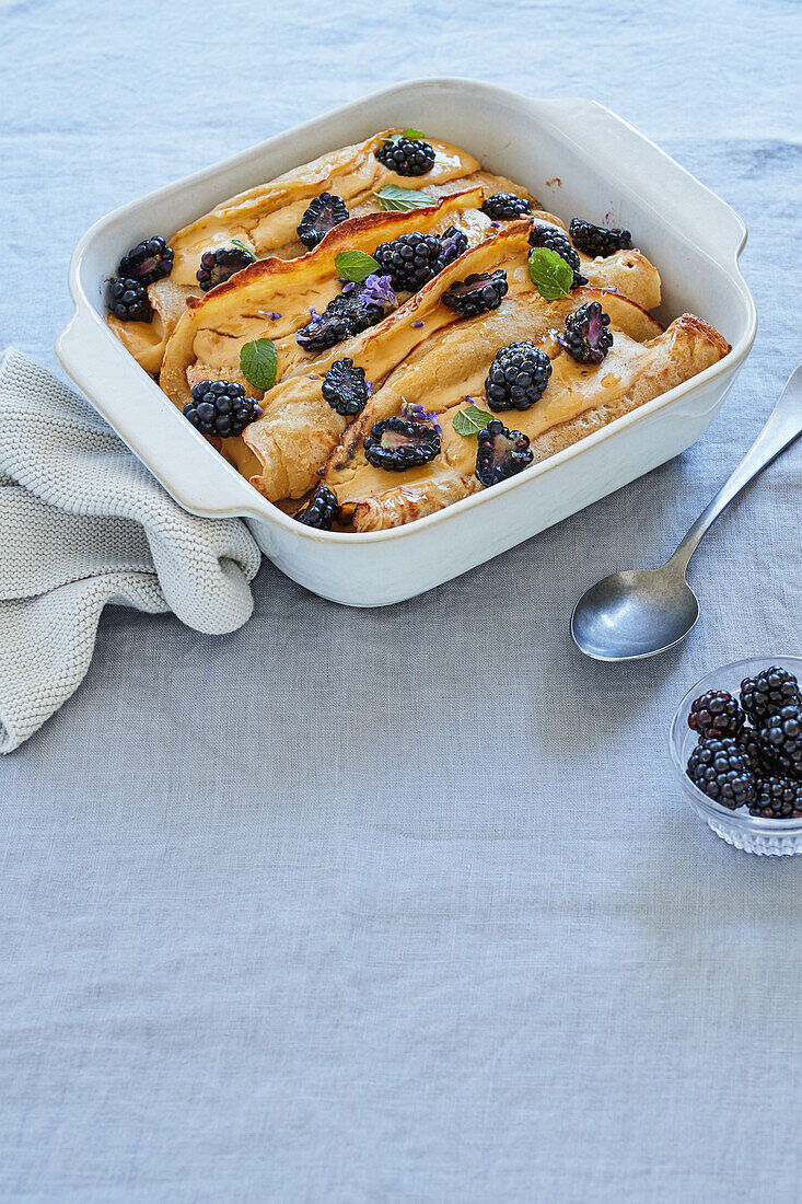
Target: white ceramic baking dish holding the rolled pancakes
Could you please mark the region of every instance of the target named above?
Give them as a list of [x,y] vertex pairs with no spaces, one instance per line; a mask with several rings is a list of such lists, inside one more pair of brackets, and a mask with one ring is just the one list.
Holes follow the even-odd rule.
[[[471,150],[566,222],[624,225],[659,267],[665,321],[688,309],[732,344],[724,360],[486,492],[391,531],[313,531],[265,501],[185,421],[104,320],[120,254],[170,235],[224,199],[387,126]],[[738,270],[737,214],[608,110],[530,100],[468,79],[419,79],[367,96],[170,184],[95,223],[70,264],[75,314],[55,354],[65,372],[188,510],[241,515],[294,580],[347,606],[383,606],[456,577],[678,455],[718,413],[755,337]]]

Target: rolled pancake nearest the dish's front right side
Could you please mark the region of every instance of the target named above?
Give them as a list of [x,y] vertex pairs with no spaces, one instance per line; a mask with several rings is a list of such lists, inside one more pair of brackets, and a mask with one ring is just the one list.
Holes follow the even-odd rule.
[[[613,307],[611,300],[608,295],[605,302],[608,308]],[[626,303],[621,299],[618,302],[619,306]],[[667,393],[730,350],[729,343],[714,327],[692,314],[683,314],[666,331],[645,342],[639,342],[612,323],[611,329],[614,331],[613,347],[602,364],[577,364],[558,348],[552,361],[552,378],[542,399],[530,409],[505,411],[495,415],[529,437],[533,464]],[[336,456],[331,458],[326,484],[336,492],[343,512],[350,514],[354,530],[383,531],[400,526],[468,497],[482,488],[473,476],[476,437],[458,435],[454,418],[465,405],[465,397],[456,396],[459,390],[472,386],[478,393],[479,377],[486,373],[489,366],[490,359],[484,366],[477,361],[464,364],[459,379],[453,384],[449,382],[447,390],[435,395],[436,403],[447,407],[438,409],[443,432],[441,454],[430,465],[415,470],[414,474],[405,473],[401,485],[393,485],[388,473],[368,465],[361,443],[356,439],[352,442],[352,431],[348,432],[350,454],[348,458],[340,456],[338,462]],[[408,384],[403,374],[388,383],[373,399],[376,412],[385,414],[395,406],[397,413],[401,390]],[[388,396],[383,397],[385,391]],[[450,406],[449,401],[453,402]],[[479,405],[482,401],[478,399]]]

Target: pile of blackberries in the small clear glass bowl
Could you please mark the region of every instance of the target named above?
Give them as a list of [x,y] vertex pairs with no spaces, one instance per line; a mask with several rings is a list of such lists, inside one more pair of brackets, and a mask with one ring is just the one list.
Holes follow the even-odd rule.
[[700,790],[765,819],[802,816],[802,697],[792,673],[773,665],[744,678],[741,706],[708,690],[691,703],[688,726],[700,737],[688,762]]

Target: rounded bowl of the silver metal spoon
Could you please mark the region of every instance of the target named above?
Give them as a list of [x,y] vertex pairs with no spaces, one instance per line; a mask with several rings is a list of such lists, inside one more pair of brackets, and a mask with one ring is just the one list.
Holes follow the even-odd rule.
[[573,608],[571,635],[596,661],[635,661],[673,648],[697,619],[696,595],[668,563],[597,582]]

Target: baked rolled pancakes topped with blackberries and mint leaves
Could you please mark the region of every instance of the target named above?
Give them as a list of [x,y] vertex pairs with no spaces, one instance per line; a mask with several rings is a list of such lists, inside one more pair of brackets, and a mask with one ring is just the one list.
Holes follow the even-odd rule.
[[382,531],[524,471],[730,352],[664,326],[627,230],[388,130],[119,262],[108,324],[270,502]]

